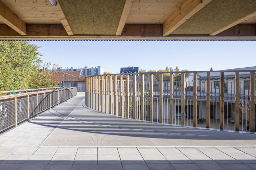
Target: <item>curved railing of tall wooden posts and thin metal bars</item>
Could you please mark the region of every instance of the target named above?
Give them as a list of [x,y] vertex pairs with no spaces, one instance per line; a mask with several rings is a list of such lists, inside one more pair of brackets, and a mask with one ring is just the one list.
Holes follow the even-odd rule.
[[122,118],[254,133],[255,71],[240,72],[243,77],[239,71],[89,76],[85,104]]

